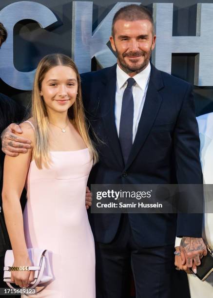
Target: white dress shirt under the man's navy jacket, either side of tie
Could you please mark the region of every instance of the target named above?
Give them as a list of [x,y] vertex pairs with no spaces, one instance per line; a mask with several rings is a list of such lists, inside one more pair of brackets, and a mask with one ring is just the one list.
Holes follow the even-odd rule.
[[[133,100],[134,100],[134,117],[133,117],[133,142],[136,137],[137,127],[140,120],[140,116],[143,110],[143,105],[147,93],[147,88],[149,84],[149,78],[151,73],[151,65],[150,63],[147,67],[135,75],[133,78],[136,83],[132,87],[133,92]],[[116,69],[116,102],[115,102],[115,119],[116,119],[116,129],[117,135],[119,136],[119,127],[120,127],[120,114],[122,107],[122,99],[124,90],[127,87],[127,80],[130,78],[117,64]]]

